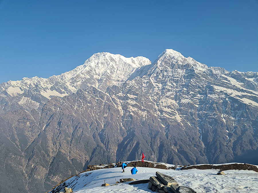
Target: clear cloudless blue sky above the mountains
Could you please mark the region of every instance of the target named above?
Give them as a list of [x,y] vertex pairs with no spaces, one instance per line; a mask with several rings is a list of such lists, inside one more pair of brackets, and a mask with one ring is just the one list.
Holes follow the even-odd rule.
[[0,0],[0,83],[74,69],[93,53],[154,61],[166,48],[258,71],[258,1]]

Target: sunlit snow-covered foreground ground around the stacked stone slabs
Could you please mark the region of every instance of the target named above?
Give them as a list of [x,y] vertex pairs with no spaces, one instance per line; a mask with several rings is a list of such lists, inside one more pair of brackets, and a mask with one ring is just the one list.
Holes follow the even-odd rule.
[[164,170],[156,168],[137,167],[137,174],[132,175],[132,167],[125,168],[122,173],[121,168],[99,169],[84,172],[73,176],[66,181],[66,187],[72,188],[78,193],[86,192],[152,192],[147,184],[129,185],[129,182],[119,183],[114,186],[102,187],[101,184],[116,184],[120,178],[134,178],[144,180],[155,176],[159,171],[175,178],[179,185],[188,186],[196,192],[258,192],[258,173],[249,170],[226,170],[226,175],[217,175],[219,170]]

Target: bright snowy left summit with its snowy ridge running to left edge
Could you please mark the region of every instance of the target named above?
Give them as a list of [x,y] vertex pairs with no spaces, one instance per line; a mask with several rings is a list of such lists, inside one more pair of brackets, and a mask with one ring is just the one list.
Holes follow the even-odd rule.
[[53,96],[64,97],[88,86],[105,91],[109,85],[123,83],[138,67],[150,63],[149,59],[142,56],[127,58],[108,52],[95,53],[83,65],[61,75],[53,75],[49,78],[24,77],[20,81],[2,83],[1,96],[8,98],[23,95],[17,99],[19,104],[27,101],[25,105],[28,108],[38,108],[43,101],[36,100],[36,102],[33,101],[33,105],[28,105],[27,103],[32,104],[27,96],[28,90],[34,95],[37,93],[43,96],[44,100],[49,100]]

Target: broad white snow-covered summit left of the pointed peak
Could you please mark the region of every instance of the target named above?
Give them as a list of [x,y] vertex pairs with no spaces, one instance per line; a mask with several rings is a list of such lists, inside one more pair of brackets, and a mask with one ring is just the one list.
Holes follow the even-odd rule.
[[104,91],[109,85],[124,82],[138,67],[150,63],[142,56],[126,58],[120,54],[101,52],[93,54],[83,65],[61,76],[76,90],[92,85]]

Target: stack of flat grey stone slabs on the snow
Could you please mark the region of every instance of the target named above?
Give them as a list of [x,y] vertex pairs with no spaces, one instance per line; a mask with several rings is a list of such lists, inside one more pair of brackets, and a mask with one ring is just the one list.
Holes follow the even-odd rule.
[[150,177],[148,188],[153,192],[160,193],[196,193],[189,187],[178,186],[174,178],[160,172],[156,172],[156,176]]

